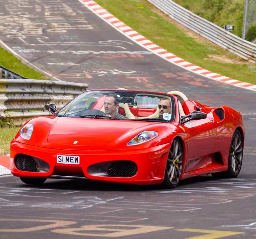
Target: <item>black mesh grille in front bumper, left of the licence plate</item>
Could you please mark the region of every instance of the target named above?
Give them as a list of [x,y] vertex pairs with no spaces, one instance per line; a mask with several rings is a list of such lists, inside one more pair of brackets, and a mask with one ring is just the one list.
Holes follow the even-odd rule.
[[18,154],[14,159],[15,166],[18,170],[27,172],[37,172],[37,164],[31,156]]

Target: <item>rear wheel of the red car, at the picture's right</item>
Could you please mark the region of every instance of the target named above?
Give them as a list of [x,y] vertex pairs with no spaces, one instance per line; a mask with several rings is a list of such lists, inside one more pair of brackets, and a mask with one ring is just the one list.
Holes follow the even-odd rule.
[[241,133],[236,130],[231,140],[228,159],[228,170],[225,172],[213,173],[214,177],[236,178],[242,167],[243,141]]

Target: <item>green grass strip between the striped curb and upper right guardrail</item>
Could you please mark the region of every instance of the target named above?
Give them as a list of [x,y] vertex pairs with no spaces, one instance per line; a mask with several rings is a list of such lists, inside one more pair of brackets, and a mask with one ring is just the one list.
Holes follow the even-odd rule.
[[[209,71],[256,84],[256,65],[240,59],[239,64],[222,63],[210,58],[217,55],[228,60],[238,57],[229,51],[188,36],[185,31],[171,23],[167,17],[159,15],[155,7],[146,0],[96,0],[98,4],[160,47],[201,66]],[[194,1],[196,2],[196,1]],[[154,10],[154,11],[153,11]]]

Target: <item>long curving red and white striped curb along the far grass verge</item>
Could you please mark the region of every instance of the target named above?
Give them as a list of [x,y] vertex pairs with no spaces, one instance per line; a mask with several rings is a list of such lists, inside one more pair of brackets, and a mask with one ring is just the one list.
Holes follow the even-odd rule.
[[153,42],[143,37],[138,32],[134,31],[132,28],[124,24],[122,21],[118,20],[111,13],[109,13],[108,11],[103,9],[103,7],[98,5],[95,1],[92,1],[92,0],[79,0],[79,1],[82,2],[85,6],[87,6],[96,15],[98,15],[107,23],[109,23],[111,26],[115,27],[120,32],[125,34],[128,38],[139,43],[144,48],[152,51],[153,53],[159,55],[161,58],[168,60],[170,63],[176,64],[196,74],[206,76],[216,81],[221,81],[221,82],[228,83],[230,85],[256,91],[256,85],[246,83],[243,81],[234,80],[230,77],[226,77],[226,76],[214,73],[212,71],[208,71],[206,69],[203,69],[202,67],[189,63],[188,61],[183,60],[182,58],[179,58],[178,56],[170,53],[169,51],[159,47],[158,45],[154,44]]

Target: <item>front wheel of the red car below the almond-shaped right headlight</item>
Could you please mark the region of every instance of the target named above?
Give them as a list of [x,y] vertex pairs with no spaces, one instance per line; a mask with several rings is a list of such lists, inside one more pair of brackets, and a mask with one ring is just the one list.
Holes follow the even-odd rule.
[[182,162],[183,151],[181,142],[175,138],[172,141],[171,149],[168,154],[162,186],[171,189],[178,185],[181,177]]

